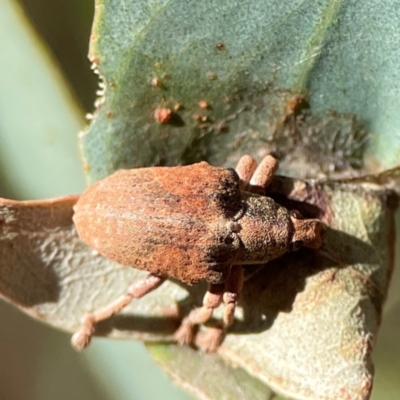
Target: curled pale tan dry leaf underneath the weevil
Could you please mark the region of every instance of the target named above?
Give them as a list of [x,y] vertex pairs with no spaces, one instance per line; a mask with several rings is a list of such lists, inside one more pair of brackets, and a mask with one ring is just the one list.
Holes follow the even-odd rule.
[[[285,196],[275,195],[274,188]],[[236,321],[219,355],[296,399],[368,399],[371,350],[393,268],[397,196],[374,182],[280,178],[270,195],[322,218],[328,225],[324,246],[319,253],[304,249],[262,269],[248,268]],[[1,295],[69,332],[85,312],[146,275],[104,259],[80,241],[72,224],[76,200],[0,202]],[[168,281],[101,323],[96,333],[170,341],[180,315],[201,303],[204,290]],[[206,334],[200,331],[197,340]],[[163,364],[167,370],[174,365],[182,384],[190,379],[184,373],[190,364],[174,364],[174,352],[182,357],[174,347],[171,361]]]

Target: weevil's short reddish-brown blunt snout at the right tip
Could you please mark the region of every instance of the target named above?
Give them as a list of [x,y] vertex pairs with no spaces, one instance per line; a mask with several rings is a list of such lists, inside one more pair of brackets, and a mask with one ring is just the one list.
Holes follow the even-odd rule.
[[323,225],[318,219],[298,219],[291,215],[293,223],[293,236],[290,244],[291,250],[297,250],[304,246],[317,249],[322,246]]

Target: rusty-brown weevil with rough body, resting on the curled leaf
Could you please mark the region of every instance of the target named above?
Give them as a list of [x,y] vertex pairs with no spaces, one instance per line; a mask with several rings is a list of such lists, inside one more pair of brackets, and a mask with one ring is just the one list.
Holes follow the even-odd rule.
[[302,219],[258,194],[277,167],[272,156],[258,167],[244,156],[236,170],[206,162],[119,170],[89,187],[74,208],[81,239],[104,257],[149,275],[115,302],[87,314],[72,344],[86,347],[96,323],[171,277],[189,285],[209,284],[203,305],[192,310],[175,333],[181,344],[192,343],[196,325],[224,303],[223,320],[209,331],[203,348],[216,351],[234,319],[243,266],[322,244],[319,220]]

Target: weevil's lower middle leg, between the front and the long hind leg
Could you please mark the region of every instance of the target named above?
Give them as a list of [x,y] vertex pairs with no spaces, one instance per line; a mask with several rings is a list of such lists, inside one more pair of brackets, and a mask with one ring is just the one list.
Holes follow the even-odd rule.
[[214,310],[222,303],[225,284],[211,284],[203,298],[203,306],[195,308],[183,319],[181,326],[175,332],[175,339],[180,344],[193,342],[194,328],[198,324],[208,321]]

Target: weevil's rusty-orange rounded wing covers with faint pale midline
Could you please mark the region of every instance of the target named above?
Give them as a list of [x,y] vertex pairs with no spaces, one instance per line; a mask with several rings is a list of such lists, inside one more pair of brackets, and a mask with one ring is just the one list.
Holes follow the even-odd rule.
[[74,221],[86,243],[121,264],[219,283],[214,264],[232,248],[218,236],[230,234],[226,224],[243,207],[238,183],[233,170],[207,163],[120,170],[85,192]]

